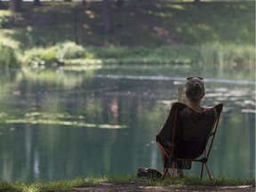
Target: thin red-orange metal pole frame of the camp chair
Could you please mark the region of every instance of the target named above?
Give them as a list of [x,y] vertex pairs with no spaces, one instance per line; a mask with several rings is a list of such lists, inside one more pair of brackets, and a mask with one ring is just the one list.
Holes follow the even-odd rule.
[[[213,123],[212,132],[211,132],[211,134],[209,136],[209,139],[207,140],[207,143],[210,142],[210,147],[206,148],[207,147],[207,143],[206,143],[205,148],[204,148],[204,153],[203,153],[204,155],[202,154],[203,156],[201,155],[201,156],[199,156],[198,158],[195,158],[195,159],[179,158],[179,157],[173,155],[175,148],[172,148],[172,147],[171,147],[171,154],[168,155],[167,152],[165,151],[164,147],[161,145],[161,143],[159,141],[157,141],[158,145],[163,150],[164,155],[168,158],[168,164],[167,164],[167,167],[166,167],[167,169],[165,170],[162,179],[164,179],[164,177],[166,175],[166,172],[168,171],[168,169],[170,168],[170,166],[172,164],[172,180],[173,180],[173,178],[174,178],[174,171],[175,171],[175,162],[183,161],[183,162],[191,162],[191,163],[192,162],[201,163],[202,167],[201,167],[200,179],[202,180],[202,178],[203,178],[204,166],[205,166],[206,171],[208,173],[208,176],[209,176],[210,180],[212,180],[212,176],[211,176],[210,170],[209,170],[209,168],[207,166],[207,161],[208,161],[208,158],[209,158],[211,150],[212,150],[212,144],[213,144],[213,140],[215,139],[215,135],[216,135],[217,128],[218,128],[218,125],[219,125],[220,114],[222,112],[223,104],[220,103],[220,104],[214,106],[213,108],[216,109],[217,115],[216,115],[216,119],[215,119],[215,121]],[[174,146],[174,143],[175,143],[175,134],[174,134],[174,132],[175,132],[175,129],[176,129],[176,120],[177,120],[178,112],[179,111],[176,108],[175,109],[175,113],[174,113],[174,121],[173,121],[173,128],[172,128],[172,145],[171,146]]]

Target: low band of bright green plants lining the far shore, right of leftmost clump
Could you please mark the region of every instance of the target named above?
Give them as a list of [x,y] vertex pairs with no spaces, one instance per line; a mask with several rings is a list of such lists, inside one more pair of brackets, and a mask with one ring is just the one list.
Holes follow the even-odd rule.
[[52,65],[61,61],[66,65],[110,64],[200,64],[228,68],[253,67],[254,47],[236,44],[186,44],[148,47],[88,47],[75,43],[25,52],[26,62],[32,66]]

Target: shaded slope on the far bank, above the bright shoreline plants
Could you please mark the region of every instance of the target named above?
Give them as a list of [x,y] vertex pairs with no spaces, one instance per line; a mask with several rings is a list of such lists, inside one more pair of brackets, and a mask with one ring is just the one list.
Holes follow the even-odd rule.
[[[12,36],[6,37],[15,38],[25,49],[33,44],[62,44],[74,41],[76,24],[77,41],[84,47],[157,47],[162,44],[207,44],[216,41],[223,44],[254,44],[255,4],[252,1],[201,4],[157,4],[151,1],[141,6],[109,6],[112,30],[108,34],[100,29],[100,3],[88,4],[86,11],[82,7],[74,9],[72,3],[45,2],[44,5],[31,9],[31,4],[24,4],[24,12],[19,17],[0,11],[3,25],[15,31]],[[60,9],[56,10],[55,6]],[[17,18],[22,19],[21,24]],[[28,30],[28,26],[32,26],[31,29]]]

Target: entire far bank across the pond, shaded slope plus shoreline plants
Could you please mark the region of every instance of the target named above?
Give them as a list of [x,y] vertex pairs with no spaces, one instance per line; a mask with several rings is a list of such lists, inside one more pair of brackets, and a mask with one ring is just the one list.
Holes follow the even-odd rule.
[[23,3],[23,12],[0,11],[0,52],[8,52],[0,63],[4,68],[20,63],[196,63],[253,68],[254,4],[153,1],[117,7],[110,3],[111,31],[104,33],[99,2],[48,2],[36,8]]

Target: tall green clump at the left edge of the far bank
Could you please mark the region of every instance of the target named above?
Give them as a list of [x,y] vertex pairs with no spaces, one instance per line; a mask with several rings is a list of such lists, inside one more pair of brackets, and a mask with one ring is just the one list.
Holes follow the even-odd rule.
[[8,69],[20,67],[17,54],[12,47],[0,44],[0,52],[0,68]]

